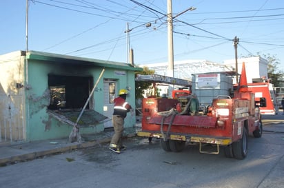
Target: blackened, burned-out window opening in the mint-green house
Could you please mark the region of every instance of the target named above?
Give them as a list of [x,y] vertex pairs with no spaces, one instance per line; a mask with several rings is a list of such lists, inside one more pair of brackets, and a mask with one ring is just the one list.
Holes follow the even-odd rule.
[[[78,109],[85,105],[92,90],[92,77],[48,75],[48,109]],[[90,103],[86,109],[90,109]],[[92,106],[92,105],[91,105]]]

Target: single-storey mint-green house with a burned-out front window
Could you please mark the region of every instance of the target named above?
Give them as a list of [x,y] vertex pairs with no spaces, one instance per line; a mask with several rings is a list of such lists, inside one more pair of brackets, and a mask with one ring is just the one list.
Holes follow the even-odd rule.
[[[78,121],[80,133],[103,132],[112,127],[113,99],[120,89],[130,90],[127,101],[135,108],[134,72],[143,69],[127,63],[17,51],[0,56],[0,70],[3,143],[68,138],[84,106]],[[128,114],[125,127],[135,123],[134,114]]]

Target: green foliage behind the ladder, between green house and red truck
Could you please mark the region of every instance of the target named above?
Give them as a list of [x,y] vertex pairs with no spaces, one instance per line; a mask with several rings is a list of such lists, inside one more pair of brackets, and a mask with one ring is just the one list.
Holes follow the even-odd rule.
[[[154,70],[149,70],[148,67],[143,67],[143,71],[141,72],[135,72],[135,76],[137,74],[142,74],[142,75],[150,75],[154,74]],[[147,90],[152,86],[151,82],[146,82],[146,81],[135,81],[135,98],[143,98],[144,90]]]

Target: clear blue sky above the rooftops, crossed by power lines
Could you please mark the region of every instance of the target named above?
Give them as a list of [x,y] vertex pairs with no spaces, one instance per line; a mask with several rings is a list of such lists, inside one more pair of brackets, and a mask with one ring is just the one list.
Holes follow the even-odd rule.
[[[41,52],[127,63],[132,48],[135,65],[168,62],[166,0],[29,0],[28,11],[26,4],[1,0],[0,54],[26,50],[28,41]],[[234,59],[236,36],[238,58],[274,56],[284,70],[284,1],[172,0],[172,17],[174,61]]]

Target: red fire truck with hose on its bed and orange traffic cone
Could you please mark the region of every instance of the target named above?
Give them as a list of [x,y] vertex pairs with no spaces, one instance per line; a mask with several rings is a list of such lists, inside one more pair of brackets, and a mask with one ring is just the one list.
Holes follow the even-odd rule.
[[255,101],[254,93],[248,90],[245,64],[239,89],[232,98],[216,96],[205,115],[196,112],[196,101],[192,96],[144,98],[138,136],[146,136],[149,140],[161,138],[161,147],[167,152],[181,152],[186,143],[196,143],[201,153],[219,154],[223,147],[225,156],[245,158],[247,136],[259,138],[262,135],[259,107],[266,105],[264,98]]

